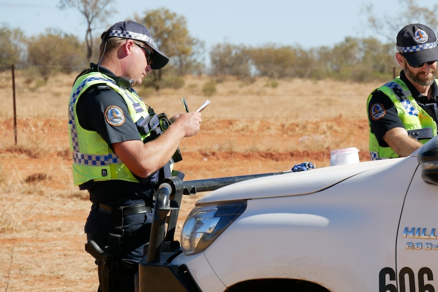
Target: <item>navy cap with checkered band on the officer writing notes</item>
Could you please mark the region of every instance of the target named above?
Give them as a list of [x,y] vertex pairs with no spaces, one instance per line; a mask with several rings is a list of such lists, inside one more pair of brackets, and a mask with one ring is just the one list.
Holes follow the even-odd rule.
[[143,24],[132,20],[119,21],[105,31],[101,39],[104,40],[114,37],[141,41],[151,47],[153,50],[153,63],[150,65],[151,69],[161,69],[169,62],[169,57],[153,45],[152,36]]

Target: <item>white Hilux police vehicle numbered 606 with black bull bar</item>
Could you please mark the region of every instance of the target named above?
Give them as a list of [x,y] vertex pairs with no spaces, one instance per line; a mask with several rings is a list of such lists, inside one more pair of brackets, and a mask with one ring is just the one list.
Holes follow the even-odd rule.
[[[196,183],[163,183],[158,220]],[[409,157],[217,188],[185,220],[180,248],[155,225],[139,290],[438,291],[437,184],[435,137]]]

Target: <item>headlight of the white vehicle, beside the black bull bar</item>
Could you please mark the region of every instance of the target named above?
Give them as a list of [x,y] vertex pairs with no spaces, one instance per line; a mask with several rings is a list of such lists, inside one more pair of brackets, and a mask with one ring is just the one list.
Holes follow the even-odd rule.
[[184,254],[204,251],[245,209],[246,201],[195,207],[181,230]]

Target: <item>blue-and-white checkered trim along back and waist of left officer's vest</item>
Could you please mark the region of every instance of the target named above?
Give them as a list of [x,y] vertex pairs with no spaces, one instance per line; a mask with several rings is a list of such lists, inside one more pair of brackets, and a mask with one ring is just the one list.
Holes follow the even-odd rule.
[[75,113],[73,111],[74,105],[76,103],[76,100],[79,97],[79,93],[84,88],[85,84],[87,82],[91,81],[110,81],[113,82],[111,79],[101,78],[101,77],[90,77],[85,79],[79,86],[76,88],[76,90],[73,92],[72,98],[70,99],[69,104],[69,123],[71,124],[71,139],[72,139],[72,146],[73,146],[73,163],[80,164],[80,165],[92,165],[92,166],[107,166],[110,164],[115,163],[121,163],[120,158],[115,153],[109,153],[108,155],[97,155],[97,154],[85,154],[79,152],[79,141],[78,141],[78,132],[76,129],[76,120],[75,120]]

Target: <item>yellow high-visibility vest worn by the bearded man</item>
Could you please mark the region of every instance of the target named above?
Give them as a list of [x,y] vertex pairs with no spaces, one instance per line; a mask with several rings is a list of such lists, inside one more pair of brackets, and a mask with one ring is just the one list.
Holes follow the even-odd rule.
[[[408,86],[400,78],[397,77],[394,80],[377,88],[376,90],[380,90],[383,93],[385,93],[394,103],[394,106],[397,109],[397,115],[400,117],[401,122],[406,128],[406,131],[421,129],[421,128],[431,128],[433,136],[436,135],[435,121],[424,109],[422,109],[418,105],[418,103],[413,98],[412,93],[409,90]],[[396,92],[398,94],[396,94]],[[368,96],[368,100],[366,103],[367,108],[371,96],[372,96],[372,92]],[[376,107],[374,108],[374,110],[378,110],[378,108]],[[376,135],[374,135],[374,133],[372,133],[371,131],[371,125],[370,125],[371,123],[369,120],[368,120],[368,124],[370,130],[369,141],[368,141],[370,160],[398,157],[397,153],[395,153],[391,147],[379,146],[379,142],[377,141]],[[419,142],[424,144],[429,140],[430,139],[422,139],[419,140]]]

